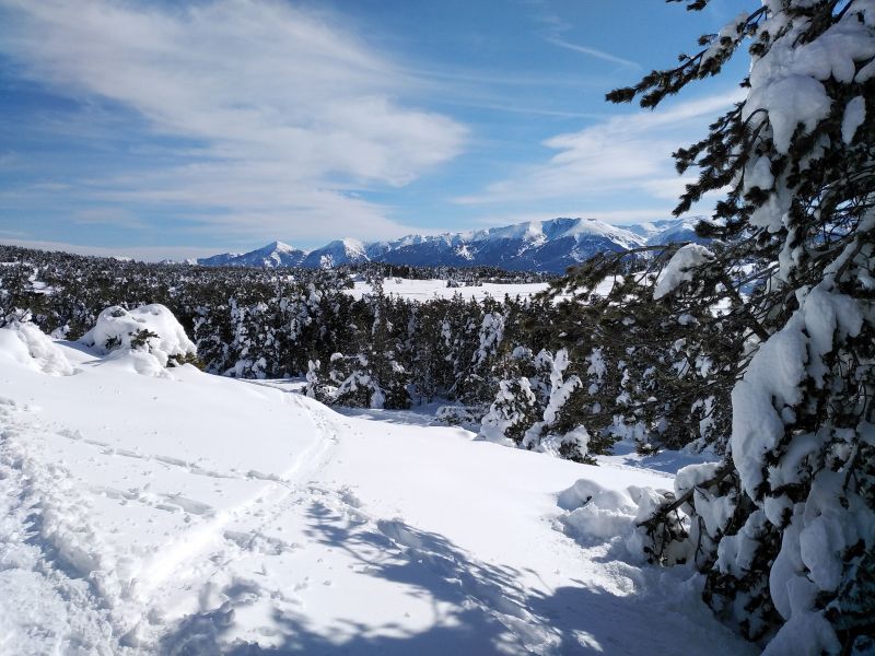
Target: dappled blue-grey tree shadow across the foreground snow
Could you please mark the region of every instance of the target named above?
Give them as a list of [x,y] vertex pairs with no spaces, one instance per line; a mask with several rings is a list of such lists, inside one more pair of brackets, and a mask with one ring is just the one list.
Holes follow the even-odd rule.
[[[695,595],[676,600],[669,596],[666,602],[665,590],[653,585],[654,576],[644,582],[641,571],[631,565],[607,565],[616,567],[618,576],[642,577],[640,589],[633,585],[627,595],[578,579],[553,590],[545,586],[541,591],[520,583],[521,570],[482,562],[445,536],[402,520],[372,519],[355,507],[354,500],[339,503],[331,495],[313,500],[306,518],[311,539],[342,550],[363,575],[399,584],[432,602],[435,621],[413,631],[398,623],[374,626],[341,618],[332,634],[324,628],[316,630],[300,611],[275,608],[269,636],[273,646],[230,642],[233,610],[245,604],[246,590],[226,589],[228,601],[221,608],[186,618],[164,637],[160,652],[173,656],[641,654],[642,648],[678,656],[696,653],[696,644],[685,640],[697,630],[691,628],[696,622],[689,608]],[[700,647],[710,644],[714,632],[712,622],[702,624]],[[724,645],[713,653],[742,652]]]

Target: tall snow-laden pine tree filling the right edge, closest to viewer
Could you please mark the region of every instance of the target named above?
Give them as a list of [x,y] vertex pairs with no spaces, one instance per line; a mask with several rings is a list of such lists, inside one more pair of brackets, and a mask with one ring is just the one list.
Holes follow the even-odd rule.
[[676,68],[608,99],[653,107],[716,74],[746,39],[747,97],[675,154],[680,172],[700,168],[676,213],[728,186],[722,225],[702,226],[727,248],[722,260],[673,258],[662,291],[751,265],[761,277],[744,303],[752,358],[732,393],[731,456],[681,470],[642,529],[657,535],[687,512],[687,539],[707,538],[695,559],[705,599],[767,642],[766,654],[872,653],[875,3],[765,0]]

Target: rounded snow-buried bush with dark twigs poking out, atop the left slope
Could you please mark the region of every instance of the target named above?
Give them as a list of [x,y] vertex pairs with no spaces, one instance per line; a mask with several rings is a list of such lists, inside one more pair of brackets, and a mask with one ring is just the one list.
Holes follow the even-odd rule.
[[80,341],[103,355],[117,350],[144,351],[154,355],[161,366],[197,354],[173,313],[158,303],[130,311],[118,305],[107,307]]

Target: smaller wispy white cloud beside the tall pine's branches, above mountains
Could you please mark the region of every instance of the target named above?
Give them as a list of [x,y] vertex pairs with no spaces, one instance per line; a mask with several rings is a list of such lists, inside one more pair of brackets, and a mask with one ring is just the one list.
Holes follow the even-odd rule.
[[618,195],[635,201],[675,199],[689,178],[676,176],[670,153],[703,136],[708,124],[739,98],[739,94],[722,94],[669,109],[615,116],[578,132],[558,134],[544,142],[558,151],[546,162],[522,167],[512,177],[457,201],[593,201]]

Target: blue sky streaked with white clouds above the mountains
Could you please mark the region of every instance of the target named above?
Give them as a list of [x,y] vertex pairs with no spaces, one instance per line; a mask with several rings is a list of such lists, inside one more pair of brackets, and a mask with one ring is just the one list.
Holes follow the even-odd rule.
[[744,58],[655,113],[604,94],[738,9],[0,0],[0,242],[158,259],[668,218],[669,153]]

